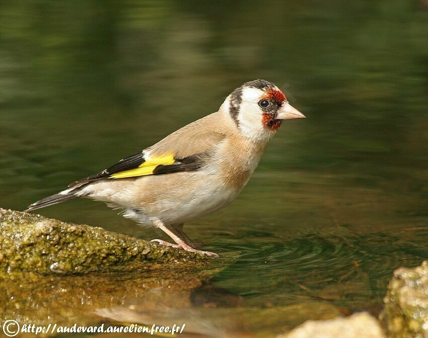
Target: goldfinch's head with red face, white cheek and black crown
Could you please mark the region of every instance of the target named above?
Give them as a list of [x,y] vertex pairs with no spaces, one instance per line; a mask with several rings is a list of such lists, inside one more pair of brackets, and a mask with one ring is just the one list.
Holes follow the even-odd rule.
[[243,136],[254,142],[269,140],[282,120],[305,117],[278,87],[259,79],[235,89],[224,105]]

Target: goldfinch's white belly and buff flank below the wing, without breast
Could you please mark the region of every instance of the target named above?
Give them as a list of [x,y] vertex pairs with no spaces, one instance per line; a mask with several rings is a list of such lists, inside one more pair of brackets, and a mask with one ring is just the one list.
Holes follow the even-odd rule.
[[[182,224],[209,215],[230,204],[241,189],[225,185],[219,177],[183,172],[143,176],[135,181],[104,180],[85,187],[89,198],[123,209],[123,216],[151,226],[155,219]],[[132,182],[132,183],[131,183]]]

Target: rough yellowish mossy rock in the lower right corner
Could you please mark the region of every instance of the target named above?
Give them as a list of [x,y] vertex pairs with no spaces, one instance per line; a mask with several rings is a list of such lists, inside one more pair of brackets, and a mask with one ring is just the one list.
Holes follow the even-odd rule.
[[391,338],[428,338],[428,261],[400,267],[388,286],[381,313]]

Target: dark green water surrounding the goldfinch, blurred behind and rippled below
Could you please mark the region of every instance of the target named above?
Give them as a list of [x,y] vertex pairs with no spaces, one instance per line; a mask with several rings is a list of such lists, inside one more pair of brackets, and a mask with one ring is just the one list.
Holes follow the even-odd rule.
[[[263,336],[325,306],[376,314],[394,269],[428,258],[427,11],[404,0],[3,3],[0,206],[23,210],[263,78],[307,119],[282,124],[232,205],[185,226],[238,255],[210,285],[239,305],[191,315],[233,314]],[[87,200],[40,213],[160,235]],[[296,318],[283,310],[305,304]]]

